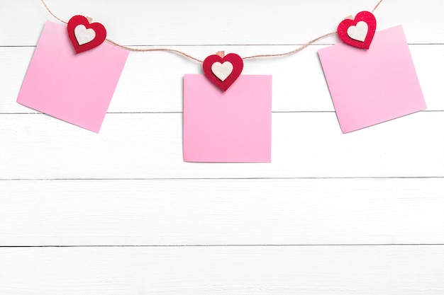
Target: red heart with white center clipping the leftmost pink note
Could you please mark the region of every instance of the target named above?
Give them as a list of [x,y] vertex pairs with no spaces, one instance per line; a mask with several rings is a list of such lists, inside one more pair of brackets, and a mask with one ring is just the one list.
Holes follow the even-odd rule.
[[89,23],[84,16],[73,16],[68,22],[68,36],[76,53],[101,45],[106,39],[106,29],[101,23]]

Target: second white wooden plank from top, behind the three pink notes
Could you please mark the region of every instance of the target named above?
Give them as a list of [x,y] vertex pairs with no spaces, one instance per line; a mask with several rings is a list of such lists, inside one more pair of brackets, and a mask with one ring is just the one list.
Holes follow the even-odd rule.
[[[444,110],[440,92],[440,69],[444,68],[444,45],[411,45],[428,110]],[[259,52],[285,52],[289,46],[231,46],[227,52],[244,56]],[[274,112],[333,111],[317,50],[308,49],[289,57],[245,62],[244,74],[273,76]],[[181,47],[202,57],[221,47]],[[35,112],[16,103],[28,69],[33,47],[0,47],[0,66],[7,75],[0,79],[0,112]],[[201,73],[201,65],[165,52],[131,53],[118,83],[109,112],[182,112],[184,74]]]

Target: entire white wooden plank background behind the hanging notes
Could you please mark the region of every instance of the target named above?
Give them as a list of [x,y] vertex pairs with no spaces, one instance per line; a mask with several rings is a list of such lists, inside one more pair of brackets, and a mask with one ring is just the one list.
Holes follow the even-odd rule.
[[[47,0],[125,45],[204,59],[292,50],[376,0]],[[182,78],[131,53],[99,134],[16,103],[46,20],[0,9],[0,294],[444,294],[442,0],[385,0],[428,110],[342,134],[317,50],[245,62],[273,76],[272,163],[184,163]],[[57,21],[56,21],[57,22]]]

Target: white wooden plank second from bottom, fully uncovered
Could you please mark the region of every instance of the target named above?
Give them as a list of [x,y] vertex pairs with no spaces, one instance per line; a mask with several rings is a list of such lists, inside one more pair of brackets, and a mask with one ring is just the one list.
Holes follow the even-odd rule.
[[440,179],[0,181],[0,245],[444,243]]

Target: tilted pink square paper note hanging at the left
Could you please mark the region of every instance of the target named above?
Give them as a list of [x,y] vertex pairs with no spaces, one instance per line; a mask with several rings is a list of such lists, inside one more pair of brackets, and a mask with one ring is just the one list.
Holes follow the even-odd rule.
[[47,21],[17,102],[99,132],[127,57],[106,42],[76,54],[66,26]]

